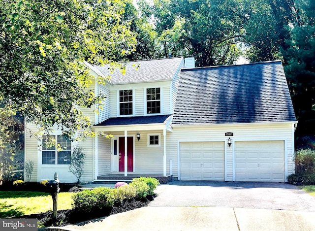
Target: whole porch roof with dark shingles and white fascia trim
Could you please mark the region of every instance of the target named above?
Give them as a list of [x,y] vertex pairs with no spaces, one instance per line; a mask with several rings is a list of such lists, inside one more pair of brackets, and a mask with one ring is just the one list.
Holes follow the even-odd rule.
[[[164,129],[171,131],[169,126],[171,115],[154,115],[154,116],[132,116],[132,117],[112,117],[103,122],[94,125],[98,131],[124,131],[124,130],[159,130]],[[133,129],[132,129],[133,128]]]

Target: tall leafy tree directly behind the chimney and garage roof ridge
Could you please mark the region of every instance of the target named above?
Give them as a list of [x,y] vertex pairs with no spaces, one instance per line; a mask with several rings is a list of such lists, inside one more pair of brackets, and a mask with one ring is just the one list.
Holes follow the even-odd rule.
[[[197,66],[232,64],[244,33],[240,0],[154,0],[140,7],[154,19],[163,56],[193,55]],[[153,16],[150,16],[153,15]]]

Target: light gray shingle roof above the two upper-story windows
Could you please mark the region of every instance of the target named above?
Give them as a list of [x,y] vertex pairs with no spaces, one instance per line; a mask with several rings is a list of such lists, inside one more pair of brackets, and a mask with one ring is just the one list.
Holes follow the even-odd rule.
[[[121,84],[172,79],[181,62],[183,62],[183,57],[128,62],[126,63],[126,74],[123,75],[120,70],[115,70],[110,74],[110,82]],[[139,65],[138,70],[133,65]],[[109,74],[108,66],[94,67],[104,75]]]

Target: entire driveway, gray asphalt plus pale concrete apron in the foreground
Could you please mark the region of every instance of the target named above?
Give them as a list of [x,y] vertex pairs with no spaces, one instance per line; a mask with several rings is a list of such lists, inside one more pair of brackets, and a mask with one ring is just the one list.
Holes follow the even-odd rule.
[[173,181],[149,206],[69,231],[314,231],[315,197],[282,183]]

